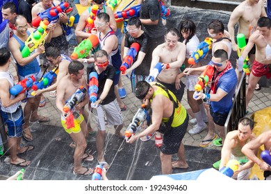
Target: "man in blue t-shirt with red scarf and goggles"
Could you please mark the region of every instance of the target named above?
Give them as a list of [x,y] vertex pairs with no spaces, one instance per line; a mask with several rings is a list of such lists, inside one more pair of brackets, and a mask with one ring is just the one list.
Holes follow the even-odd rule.
[[[232,106],[232,98],[237,84],[237,76],[228,57],[228,53],[223,49],[215,51],[211,62],[208,64],[215,68],[211,80],[211,92],[210,94],[204,94],[201,91],[199,93],[195,91],[193,96],[195,100],[204,99],[210,101],[210,114],[222,143],[225,139],[224,124]],[[205,66],[188,68],[183,73],[189,75],[192,71],[204,71],[205,69]],[[209,133],[214,134],[214,129],[209,128]]]

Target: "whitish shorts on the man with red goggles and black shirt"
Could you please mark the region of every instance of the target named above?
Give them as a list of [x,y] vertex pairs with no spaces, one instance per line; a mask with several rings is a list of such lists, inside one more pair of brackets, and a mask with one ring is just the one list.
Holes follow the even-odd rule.
[[106,130],[106,115],[108,125],[122,125],[123,118],[117,99],[107,105],[99,105],[96,109],[92,108],[91,112],[95,115],[98,130]]

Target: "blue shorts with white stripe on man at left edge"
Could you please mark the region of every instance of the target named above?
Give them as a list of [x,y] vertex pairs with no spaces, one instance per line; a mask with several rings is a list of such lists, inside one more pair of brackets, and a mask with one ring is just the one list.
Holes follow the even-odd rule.
[[22,107],[19,106],[17,110],[13,113],[3,112],[1,110],[1,115],[3,118],[3,122],[8,125],[8,136],[22,136],[22,125],[24,124]]

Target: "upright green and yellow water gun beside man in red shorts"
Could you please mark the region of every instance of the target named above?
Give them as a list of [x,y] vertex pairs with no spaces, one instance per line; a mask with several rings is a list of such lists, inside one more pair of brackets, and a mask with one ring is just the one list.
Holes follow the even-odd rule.
[[[238,34],[236,36],[236,39],[237,39],[237,46],[238,46],[237,55],[238,55],[238,57],[240,57],[242,55],[242,52],[245,49],[245,46],[247,46],[247,42],[245,42],[245,35],[242,33]],[[242,69],[243,69],[243,71],[245,72],[246,75],[249,75],[249,73],[250,73],[248,61],[249,61],[249,58],[247,56],[247,58],[245,58],[245,60],[244,60],[243,67],[238,68],[239,71],[242,71]]]

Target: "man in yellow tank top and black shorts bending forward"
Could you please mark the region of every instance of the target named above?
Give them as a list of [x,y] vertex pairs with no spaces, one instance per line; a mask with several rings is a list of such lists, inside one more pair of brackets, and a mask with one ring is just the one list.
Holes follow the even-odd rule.
[[[132,135],[127,142],[133,143],[140,137],[156,131],[163,132],[164,139],[160,154],[162,174],[171,174],[172,167],[188,168],[184,145],[181,143],[188,127],[189,116],[186,109],[172,91],[157,82],[138,82],[135,94],[138,99],[146,100],[148,105],[151,104],[152,123],[146,130]],[[178,161],[172,162],[174,154],[177,154]]]

